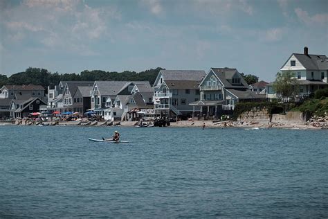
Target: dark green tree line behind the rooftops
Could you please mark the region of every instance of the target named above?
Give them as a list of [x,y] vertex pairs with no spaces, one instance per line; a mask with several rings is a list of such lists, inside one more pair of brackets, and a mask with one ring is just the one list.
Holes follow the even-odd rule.
[[[51,73],[47,69],[40,69],[29,67],[26,71],[14,73],[7,77],[0,74],[0,87],[3,85],[42,85],[45,89],[48,86],[54,87],[58,85],[60,81],[95,81],[95,80],[127,80],[127,81],[149,81],[150,85],[153,85],[158,72],[163,68],[157,67],[156,69],[149,69],[145,71],[102,71],[84,70],[80,74],[78,73]],[[257,76],[252,74],[242,73],[243,78],[248,85],[253,84],[259,80]],[[188,78],[186,78],[188,79]]]

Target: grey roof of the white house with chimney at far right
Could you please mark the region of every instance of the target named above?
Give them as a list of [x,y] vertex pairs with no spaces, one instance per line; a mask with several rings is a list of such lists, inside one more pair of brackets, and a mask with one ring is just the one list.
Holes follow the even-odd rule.
[[[305,69],[309,70],[327,70],[328,59],[326,55],[305,55],[302,53],[293,53],[292,55],[300,61]],[[285,63],[286,64],[286,63]]]

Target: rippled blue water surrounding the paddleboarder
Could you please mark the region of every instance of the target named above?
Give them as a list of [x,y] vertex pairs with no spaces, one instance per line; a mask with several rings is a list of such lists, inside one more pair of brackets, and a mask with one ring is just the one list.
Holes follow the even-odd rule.
[[0,218],[328,217],[327,130],[0,127]]

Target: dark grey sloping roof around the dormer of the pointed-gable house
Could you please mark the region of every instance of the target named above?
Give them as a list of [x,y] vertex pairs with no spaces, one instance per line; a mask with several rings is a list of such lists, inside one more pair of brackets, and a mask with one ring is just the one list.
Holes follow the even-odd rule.
[[[228,87],[230,87],[230,88],[246,88],[246,87],[248,87],[246,81],[239,74],[237,69],[229,69],[229,68],[211,68],[211,69],[215,73],[217,78],[219,78],[219,80],[221,80],[222,84],[224,84],[224,87],[226,87],[226,88],[228,88]],[[232,85],[230,82],[228,82],[228,80],[233,79],[233,76],[235,76],[236,73],[239,74],[239,76],[240,76],[241,85]]]

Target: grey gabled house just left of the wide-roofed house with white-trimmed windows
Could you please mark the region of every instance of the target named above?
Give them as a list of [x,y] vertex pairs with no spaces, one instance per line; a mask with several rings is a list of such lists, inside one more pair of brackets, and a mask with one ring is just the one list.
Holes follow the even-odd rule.
[[[92,85],[92,81],[66,82],[62,94],[64,112],[80,112],[84,114],[84,112],[86,112],[86,106],[90,105],[89,103],[84,103],[84,100],[86,102],[89,101]],[[86,94],[89,95],[87,98]]]

